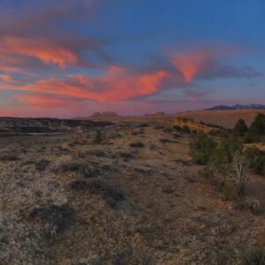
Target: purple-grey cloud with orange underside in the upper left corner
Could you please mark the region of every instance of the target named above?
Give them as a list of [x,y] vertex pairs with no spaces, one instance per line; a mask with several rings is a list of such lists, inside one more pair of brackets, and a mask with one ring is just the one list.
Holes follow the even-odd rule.
[[25,4],[21,11],[0,11],[0,72],[26,73],[33,71],[34,66],[48,70],[53,65],[63,70],[72,66],[99,68],[101,62],[110,60],[103,49],[105,40],[77,30],[70,33],[59,23],[85,19],[93,2],[46,1]]

